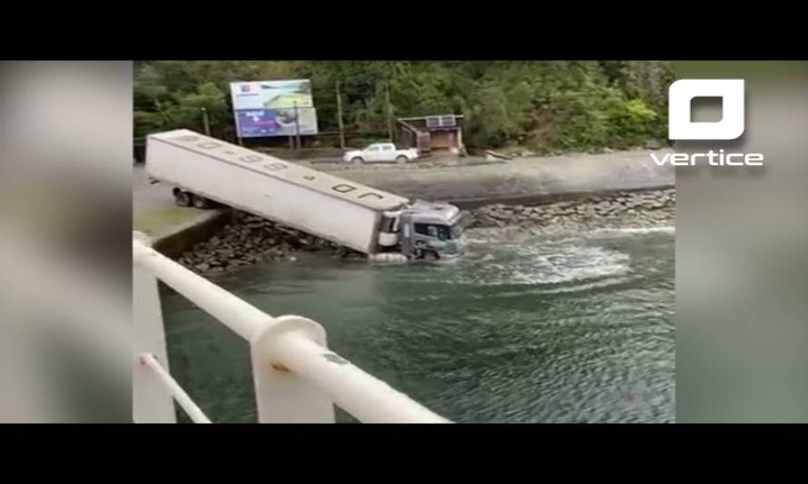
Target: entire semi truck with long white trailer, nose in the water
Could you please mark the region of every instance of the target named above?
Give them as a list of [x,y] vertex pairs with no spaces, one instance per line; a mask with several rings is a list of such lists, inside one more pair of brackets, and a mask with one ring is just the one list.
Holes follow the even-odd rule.
[[463,252],[460,211],[311,170],[189,130],[154,133],[146,171],[182,206],[219,202],[339,243],[371,259]]

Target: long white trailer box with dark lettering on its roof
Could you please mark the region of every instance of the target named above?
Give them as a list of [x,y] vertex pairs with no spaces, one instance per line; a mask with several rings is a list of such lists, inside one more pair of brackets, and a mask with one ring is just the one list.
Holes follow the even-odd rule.
[[[376,252],[381,213],[406,202],[197,133],[166,134],[148,140],[146,170],[153,178],[356,251]],[[197,139],[191,147],[172,143],[182,136]]]

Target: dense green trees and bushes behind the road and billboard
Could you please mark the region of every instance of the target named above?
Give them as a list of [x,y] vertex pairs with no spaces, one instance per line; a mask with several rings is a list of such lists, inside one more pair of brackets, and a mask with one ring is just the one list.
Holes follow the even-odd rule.
[[[340,82],[346,129],[387,131],[394,116],[464,114],[470,149],[538,153],[664,142],[670,65],[642,61],[162,61],[135,64],[135,137],[187,127],[234,139],[229,83],[309,78],[321,132],[337,130]],[[322,138],[330,143],[336,138]]]

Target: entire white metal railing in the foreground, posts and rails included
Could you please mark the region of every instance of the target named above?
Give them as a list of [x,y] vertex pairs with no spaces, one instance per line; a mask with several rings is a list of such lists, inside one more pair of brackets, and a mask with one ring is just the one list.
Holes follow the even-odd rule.
[[326,334],[301,316],[271,315],[133,238],[133,420],[175,423],[173,402],[195,422],[210,420],[169,371],[157,279],[250,342],[259,422],[333,423],[334,405],[368,423],[448,423],[329,351]]

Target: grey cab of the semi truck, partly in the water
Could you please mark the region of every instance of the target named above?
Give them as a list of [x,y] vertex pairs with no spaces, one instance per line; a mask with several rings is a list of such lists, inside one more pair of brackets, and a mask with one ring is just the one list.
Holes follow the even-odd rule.
[[416,202],[400,215],[401,253],[409,259],[458,256],[463,253],[463,229],[458,207]]

